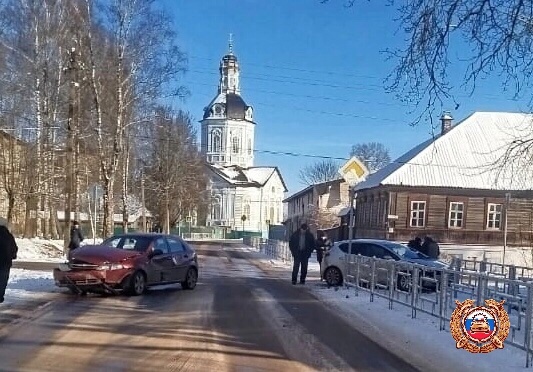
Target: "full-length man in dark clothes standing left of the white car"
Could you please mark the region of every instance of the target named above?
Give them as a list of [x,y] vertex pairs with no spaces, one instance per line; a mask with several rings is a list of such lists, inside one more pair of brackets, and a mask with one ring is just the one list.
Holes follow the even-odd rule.
[[300,229],[292,234],[291,239],[289,240],[289,249],[291,250],[294,259],[294,265],[292,267],[292,284],[296,284],[300,266],[302,267],[300,284],[305,284],[309,257],[311,257],[311,253],[315,250],[315,237],[309,231],[307,224],[303,223],[300,226]]

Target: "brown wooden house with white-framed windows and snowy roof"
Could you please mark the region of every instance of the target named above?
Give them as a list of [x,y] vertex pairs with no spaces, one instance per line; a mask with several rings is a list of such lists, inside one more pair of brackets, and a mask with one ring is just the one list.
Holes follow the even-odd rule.
[[[533,172],[513,149],[533,115],[476,112],[356,186],[356,237],[533,244]],[[530,158],[531,154],[529,154]]]

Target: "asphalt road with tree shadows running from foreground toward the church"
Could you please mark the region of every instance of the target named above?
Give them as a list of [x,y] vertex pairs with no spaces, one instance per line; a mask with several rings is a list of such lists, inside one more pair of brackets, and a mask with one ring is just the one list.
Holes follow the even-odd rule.
[[247,253],[213,246],[198,253],[194,291],[54,295],[4,332],[0,370],[416,370]]

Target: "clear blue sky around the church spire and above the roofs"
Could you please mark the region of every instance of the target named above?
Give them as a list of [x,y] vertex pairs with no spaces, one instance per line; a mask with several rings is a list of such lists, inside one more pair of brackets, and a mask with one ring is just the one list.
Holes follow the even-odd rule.
[[[292,194],[304,185],[300,169],[318,159],[273,155],[280,151],[347,158],[353,144],[382,142],[394,159],[431,137],[429,123],[409,126],[413,107],[386,93],[396,61],[383,51],[401,47],[394,7],[385,1],[163,0],[189,58],[181,83],[191,95],[177,107],[200,120],[215,96],[218,64],[233,34],[241,64],[241,93],[255,109],[256,165],[278,166]],[[455,54],[463,50],[457,41]],[[457,75],[454,85],[461,84]],[[524,102],[489,77],[476,94],[457,90],[455,121],[474,111],[520,111]],[[436,118],[438,119],[438,118]],[[198,125],[199,128],[199,125]]]

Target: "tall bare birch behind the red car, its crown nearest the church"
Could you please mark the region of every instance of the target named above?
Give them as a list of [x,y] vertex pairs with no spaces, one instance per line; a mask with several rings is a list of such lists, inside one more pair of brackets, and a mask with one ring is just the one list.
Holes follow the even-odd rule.
[[[168,14],[156,9],[154,0],[104,1],[101,7],[93,7],[92,1],[86,0],[86,4],[89,14],[100,11],[100,16],[106,19],[100,24],[91,23],[91,29],[105,27],[105,32],[99,35],[91,32],[89,50],[96,111],[94,120],[104,186],[103,234],[107,236],[113,230],[117,171],[120,164],[127,165],[123,160],[121,163],[121,159],[126,152],[128,127],[139,121],[136,114],[141,105],[183,94],[175,82],[184,71],[185,58],[176,45]],[[99,37],[104,40],[98,40]],[[106,50],[99,52],[97,46],[104,46]],[[107,58],[102,60],[98,56]],[[112,76],[109,71],[113,71]],[[106,91],[113,94],[106,97]],[[108,120],[104,117],[106,105],[112,110],[109,112],[114,112]],[[126,191],[127,187],[123,187],[122,192]],[[125,204],[126,195],[122,199]]]

